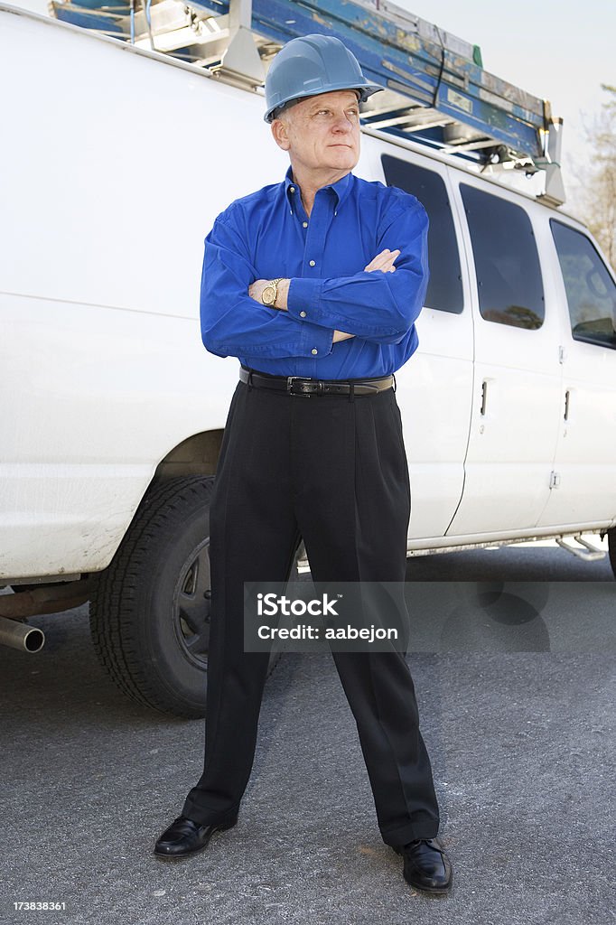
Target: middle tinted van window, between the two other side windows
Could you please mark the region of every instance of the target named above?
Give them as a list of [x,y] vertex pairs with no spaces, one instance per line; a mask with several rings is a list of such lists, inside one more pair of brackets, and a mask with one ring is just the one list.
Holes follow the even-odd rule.
[[487,321],[541,327],[545,301],[530,218],[520,205],[460,184],[473,244],[479,311]]

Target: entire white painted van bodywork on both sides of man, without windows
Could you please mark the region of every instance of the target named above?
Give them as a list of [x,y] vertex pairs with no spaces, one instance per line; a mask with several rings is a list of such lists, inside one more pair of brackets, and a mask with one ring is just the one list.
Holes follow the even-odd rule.
[[[288,159],[261,93],[17,8],[0,7],[0,80],[14,88],[0,146],[0,578],[97,572],[159,462],[225,425],[238,361],[201,342],[203,237]],[[418,148],[365,131],[356,168],[383,180],[387,151],[436,170],[461,250],[462,314],[426,308],[397,375],[410,549],[616,523],[616,351],[571,338],[548,240],[549,217],[565,213]],[[481,318],[461,181],[531,217],[541,328]],[[567,499],[550,491],[554,467]]]

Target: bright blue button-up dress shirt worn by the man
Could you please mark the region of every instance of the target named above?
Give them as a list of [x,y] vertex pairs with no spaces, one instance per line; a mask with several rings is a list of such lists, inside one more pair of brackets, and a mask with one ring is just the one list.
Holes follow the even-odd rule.
[[[277,376],[388,376],[417,348],[414,322],[428,283],[428,218],[397,187],[348,173],[316,192],[310,216],[291,167],[281,183],[243,196],[205,238],[203,344]],[[400,249],[394,273],[363,269]],[[248,295],[255,279],[290,279],[288,310]],[[355,337],[332,343],[334,329]]]

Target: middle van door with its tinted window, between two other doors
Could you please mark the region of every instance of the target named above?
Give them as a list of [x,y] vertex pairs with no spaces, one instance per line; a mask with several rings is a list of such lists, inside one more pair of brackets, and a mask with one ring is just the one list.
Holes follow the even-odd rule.
[[522,197],[483,186],[459,184],[474,286],[474,392],[462,501],[447,535],[524,536],[549,496],[559,317],[551,291],[547,303],[530,210]]

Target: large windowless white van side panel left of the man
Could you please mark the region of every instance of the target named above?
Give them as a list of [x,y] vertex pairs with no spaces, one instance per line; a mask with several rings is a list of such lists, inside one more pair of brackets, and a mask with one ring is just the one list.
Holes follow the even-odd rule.
[[0,147],[0,575],[95,572],[157,463],[225,425],[237,364],[201,341],[203,237],[228,205],[223,165],[248,192],[285,159],[256,94],[0,17],[2,83],[18,87]]

